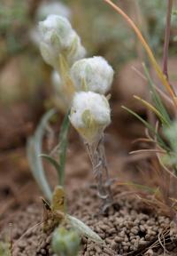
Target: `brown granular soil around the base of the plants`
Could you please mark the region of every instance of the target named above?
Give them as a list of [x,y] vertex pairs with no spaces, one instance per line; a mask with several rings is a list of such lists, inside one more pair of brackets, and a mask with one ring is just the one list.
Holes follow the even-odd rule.
[[[114,185],[115,204],[109,212],[100,214],[96,190],[89,186],[92,173],[89,172],[88,157],[80,147],[73,145],[68,150],[68,212],[93,228],[105,242],[99,245],[83,237],[80,255],[177,255],[177,239],[171,220],[143,204],[132,191],[119,190],[119,186]],[[108,158],[111,163],[115,162],[111,165],[116,176],[116,166],[123,170],[121,162],[124,161],[120,161],[122,156],[116,161],[115,148],[110,149],[112,156]],[[1,166],[2,240],[11,237],[13,256],[54,255],[50,248],[50,234],[42,232],[40,193],[28,171],[24,149],[7,154],[1,159]],[[51,176],[55,179],[54,172]]]

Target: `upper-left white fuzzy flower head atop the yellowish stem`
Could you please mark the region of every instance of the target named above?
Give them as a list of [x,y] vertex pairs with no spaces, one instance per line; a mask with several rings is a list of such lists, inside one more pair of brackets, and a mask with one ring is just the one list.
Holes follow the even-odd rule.
[[53,68],[58,69],[60,54],[65,56],[69,65],[85,55],[80,37],[64,17],[48,16],[46,20],[39,22],[39,31],[42,58]]

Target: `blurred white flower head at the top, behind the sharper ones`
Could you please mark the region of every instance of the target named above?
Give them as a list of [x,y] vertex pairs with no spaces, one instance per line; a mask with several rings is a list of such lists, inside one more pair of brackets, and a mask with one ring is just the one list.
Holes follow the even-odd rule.
[[39,5],[36,12],[36,20],[44,20],[50,14],[57,14],[68,20],[71,18],[71,11],[65,4],[52,1],[50,3],[42,2],[42,4]]

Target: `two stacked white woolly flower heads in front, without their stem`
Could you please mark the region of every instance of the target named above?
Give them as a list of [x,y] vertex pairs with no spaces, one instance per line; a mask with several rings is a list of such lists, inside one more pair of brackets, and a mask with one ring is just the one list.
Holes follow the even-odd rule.
[[70,71],[75,90],[70,120],[88,143],[102,136],[111,123],[111,109],[104,94],[112,85],[113,69],[102,57],[78,60]]

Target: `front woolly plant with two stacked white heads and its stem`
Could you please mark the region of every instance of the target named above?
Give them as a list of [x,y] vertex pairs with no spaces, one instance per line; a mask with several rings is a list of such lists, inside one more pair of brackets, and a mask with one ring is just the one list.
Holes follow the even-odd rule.
[[111,108],[103,94],[111,88],[113,70],[103,58],[94,57],[73,64],[71,77],[76,90],[83,92],[76,92],[73,96],[70,121],[88,149],[98,196],[103,199],[105,210],[112,204],[111,183],[104,154],[104,129],[111,123]]

